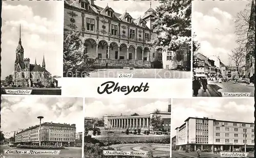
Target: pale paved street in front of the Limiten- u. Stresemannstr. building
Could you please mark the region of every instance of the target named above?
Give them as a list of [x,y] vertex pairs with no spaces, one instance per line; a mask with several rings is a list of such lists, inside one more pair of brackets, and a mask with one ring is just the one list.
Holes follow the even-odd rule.
[[[4,154],[6,149],[22,150],[16,147],[0,146],[1,158],[81,158],[82,148],[61,149],[59,155],[28,155],[28,154]],[[25,149],[24,149],[25,150]],[[26,149],[30,150],[30,149]]]

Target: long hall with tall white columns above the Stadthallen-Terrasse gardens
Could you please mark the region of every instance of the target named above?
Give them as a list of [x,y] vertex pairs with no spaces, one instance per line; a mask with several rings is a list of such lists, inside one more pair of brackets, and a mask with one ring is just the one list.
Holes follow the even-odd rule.
[[151,119],[157,115],[160,116],[163,121],[163,128],[166,131],[170,131],[170,106],[168,105],[168,111],[160,111],[158,114],[153,112],[149,115],[139,115],[139,116],[114,116],[105,115],[103,116],[105,129],[138,129],[153,130],[154,127],[151,125]]

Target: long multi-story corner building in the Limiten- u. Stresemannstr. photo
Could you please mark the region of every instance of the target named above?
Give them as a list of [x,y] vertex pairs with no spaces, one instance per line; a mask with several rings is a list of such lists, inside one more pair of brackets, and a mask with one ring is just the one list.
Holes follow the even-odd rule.
[[74,146],[76,125],[45,122],[16,133],[15,142],[20,144],[39,144]]

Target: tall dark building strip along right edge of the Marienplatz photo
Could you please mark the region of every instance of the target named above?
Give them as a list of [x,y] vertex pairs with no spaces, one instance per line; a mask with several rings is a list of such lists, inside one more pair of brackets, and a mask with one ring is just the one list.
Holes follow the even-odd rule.
[[[246,70],[245,70],[245,77],[250,80],[250,82],[254,82],[254,64],[255,64],[255,0],[252,0],[251,3],[251,13],[249,19],[249,28],[247,32],[247,44],[246,44]],[[253,53],[254,52],[254,53]]]

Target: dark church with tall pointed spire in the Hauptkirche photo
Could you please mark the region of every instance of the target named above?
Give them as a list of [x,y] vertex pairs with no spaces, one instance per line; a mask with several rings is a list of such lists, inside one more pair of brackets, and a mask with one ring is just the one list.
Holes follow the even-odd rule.
[[45,56],[42,65],[30,63],[30,58],[24,58],[22,46],[22,31],[19,25],[19,40],[16,48],[14,63],[13,84],[16,87],[49,87],[51,86],[51,74],[46,70]]

